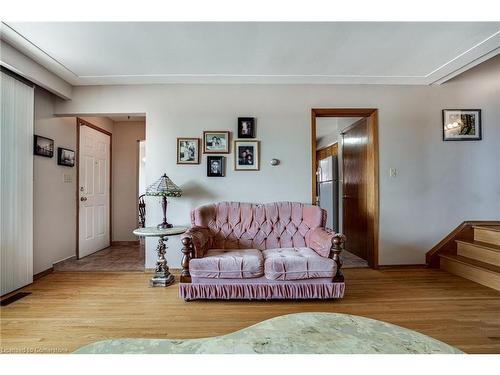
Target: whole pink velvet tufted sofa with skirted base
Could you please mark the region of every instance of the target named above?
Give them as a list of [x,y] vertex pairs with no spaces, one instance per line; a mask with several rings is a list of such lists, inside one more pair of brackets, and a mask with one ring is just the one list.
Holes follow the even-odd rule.
[[324,210],[295,202],[196,208],[182,238],[181,298],[342,298],[345,238],[325,222]]

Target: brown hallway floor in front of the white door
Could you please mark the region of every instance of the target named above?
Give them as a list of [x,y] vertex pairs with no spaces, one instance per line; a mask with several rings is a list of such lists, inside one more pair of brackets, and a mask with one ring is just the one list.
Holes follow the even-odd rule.
[[82,259],[70,258],[56,263],[54,271],[144,271],[144,246],[110,246]]

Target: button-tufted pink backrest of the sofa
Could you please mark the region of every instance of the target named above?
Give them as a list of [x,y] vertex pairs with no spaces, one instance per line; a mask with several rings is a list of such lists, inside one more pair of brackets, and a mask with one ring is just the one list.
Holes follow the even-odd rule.
[[213,234],[212,249],[305,247],[309,233],[325,223],[324,210],[295,202],[221,202],[191,212],[191,224]]

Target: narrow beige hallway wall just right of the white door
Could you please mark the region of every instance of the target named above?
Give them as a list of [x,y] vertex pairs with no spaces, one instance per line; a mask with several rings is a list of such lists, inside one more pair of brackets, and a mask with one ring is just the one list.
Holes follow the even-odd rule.
[[113,241],[135,241],[139,179],[139,144],[144,121],[115,122],[113,127]]

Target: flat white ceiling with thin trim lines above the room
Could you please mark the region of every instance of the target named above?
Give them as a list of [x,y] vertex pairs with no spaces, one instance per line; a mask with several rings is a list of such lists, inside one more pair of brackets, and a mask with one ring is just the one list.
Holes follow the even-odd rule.
[[7,22],[72,85],[442,83],[500,53],[500,22]]

